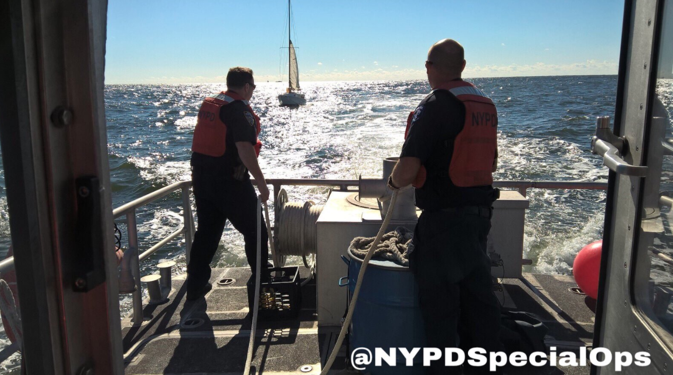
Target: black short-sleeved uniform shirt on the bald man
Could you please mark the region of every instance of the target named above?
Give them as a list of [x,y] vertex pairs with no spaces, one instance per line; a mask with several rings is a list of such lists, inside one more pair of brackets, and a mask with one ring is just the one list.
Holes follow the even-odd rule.
[[490,207],[495,201],[493,186],[458,187],[449,178],[454,140],[464,122],[464,104],[446,90],[434,90],[416,108],[400,158],[419,158],[427,170],[425,184],[416,189],[420,209]]

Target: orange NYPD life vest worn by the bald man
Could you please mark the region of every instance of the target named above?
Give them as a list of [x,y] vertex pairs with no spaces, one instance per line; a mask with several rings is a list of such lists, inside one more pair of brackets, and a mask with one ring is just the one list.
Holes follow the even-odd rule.
[[[435,90],[446,90],[465,106],[462,131],[454,139],[448,174],[451,182],[460,187],[490,185],[493,183],[493,161],[497,149],[498,116],[495,104],[483,91],[466,81],[451,81]],[[414,112],[406,119],[404,139],[409,133]],[[413,186],[425,184],[427,171],[421,166]]]

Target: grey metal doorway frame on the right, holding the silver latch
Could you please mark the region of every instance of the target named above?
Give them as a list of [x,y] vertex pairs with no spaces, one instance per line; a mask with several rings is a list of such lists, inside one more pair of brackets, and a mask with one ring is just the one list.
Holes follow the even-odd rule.
[[[670,342],[656,333],[639,308],[643,296],[635,288],[641,290],[646,281],[634,277],[647,266],[643,259],[648,255],[643,251],[647,250],[648,235],[641,229],[645,180],[658,178],[654,174],[660,169],[655,160],[647,162],[646,158],[652,146],[649,138],[663,5],[662,0],[626,1],[619,63],[613,132],[628,141],[625,161],[647,165],[649,170],[645,178],[609,174],[594,348],[649,353],[650,366],[625,368],[627,374],[664,374],[673,364]],[[592,367],[592,374],[614,373],[614,362]]]

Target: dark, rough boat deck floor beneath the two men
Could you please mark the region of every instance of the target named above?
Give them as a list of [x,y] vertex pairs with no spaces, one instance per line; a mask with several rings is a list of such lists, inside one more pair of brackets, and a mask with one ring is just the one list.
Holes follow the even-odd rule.
[[[303,267],[302,272],[308,274]],[[225,277],[235,281],[218,285]],[[131,327],[130,318],[122,320],[126,374],[242,374],[252,318],[249,277],[247,267],[213,269],[213,290],[194,302],[185,301],[184,275],[174,277],[168,302],[144,306],[142,326]],[[504,298],[505,308],[532,312],[548,327],[548,347],[561,352],[591,345],[594,313],[585,296],[569,291],[576,286],[572,277],[524,274],[522,279],[504,279],[502,285],[496,295]],[[319,374],[338,335],[338,327],[318,328],[312,280],[302,287],[302,310],[296,319],[258,322],[253,373]],[[356,374],[345,369],[345,359],[343,345],[330,374]],[[304,366],[310,370],[302,371]],[[589,374],[589,368],[517,368],[516,374]]]

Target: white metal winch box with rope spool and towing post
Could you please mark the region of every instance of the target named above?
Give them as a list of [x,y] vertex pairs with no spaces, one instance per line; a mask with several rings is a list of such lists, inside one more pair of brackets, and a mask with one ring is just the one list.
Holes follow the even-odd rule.
[[[347,275],[340,260],[355,237],[372,237],[382,224],[389,209],[392,191],[386,187],[398,158],[383,161],[381,177],[360,177],[359,189],[333,190],[325,205],[313,202],[289,202],[281,191],[275,205],[275,243],[281,261],[288,255],[298,255],[308,261],[316,254],[316,289],[318,325],[340,326],[346,308],[346,288],[339,279]],[[493,267],[495,277],[522,277],[524,247],[524,217],[528,199],[517,191],[501,191],[493,203],[489,252],[499,254],[501,267]],[[386,232],[398,226],[414,230],[418,215],[414,190],[398,194],[390,225]],[[281,263],[282,264],[282,263]]]

